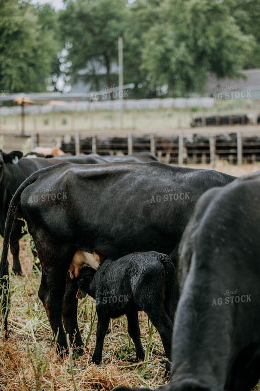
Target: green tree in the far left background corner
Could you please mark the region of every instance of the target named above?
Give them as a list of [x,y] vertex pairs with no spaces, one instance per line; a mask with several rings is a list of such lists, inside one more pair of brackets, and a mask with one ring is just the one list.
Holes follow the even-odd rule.
[[[0,81],[9,92],[46,91],[58,50],[41,10],[18,0],[0,0]],[[51,12],[55,12],[52,10]]]

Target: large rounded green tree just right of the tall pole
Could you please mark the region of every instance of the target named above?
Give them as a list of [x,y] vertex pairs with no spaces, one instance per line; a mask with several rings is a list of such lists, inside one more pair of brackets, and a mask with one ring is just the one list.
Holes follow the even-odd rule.
[[183,96],[203,91],[206,72],[240,76],[255,41],[229,11],[212,0],[168,0],[161,24],[146,33],[142,66],[151,83],[167,83],[171,95]]

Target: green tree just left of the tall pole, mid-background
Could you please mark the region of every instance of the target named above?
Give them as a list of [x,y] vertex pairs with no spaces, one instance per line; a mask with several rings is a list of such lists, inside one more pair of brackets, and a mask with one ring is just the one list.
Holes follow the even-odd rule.
[[[73,82],[81,79],[96,90],[104,82],[109,87],[117,83],[117,42],[127,23],[127,13],[123,0],[69,0],[66,3],[60,21]],[[102,74],[105,78],[101,83]]]

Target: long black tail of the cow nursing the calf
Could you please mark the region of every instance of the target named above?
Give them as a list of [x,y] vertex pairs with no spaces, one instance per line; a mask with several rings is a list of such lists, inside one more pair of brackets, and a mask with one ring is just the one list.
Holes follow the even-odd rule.
[[0,328],[0,335],[3,330],[6,331],[7,335],[7,315],[9,311],[9,270],[8,270],[8,250],[9,250],[9,241],[11,235],[12,225],[15,219],[15,212],[19,201],[21,200],[21,194],[26,189],[27,186],[31,185],[38,179],[38,173],[35,172],[29,176],[21,186],[18,187],[16,192],[13,195],[13,198],[10,202],[6,223],[5,223],[5,233],[3,240],[3,251],[0,261],[0,316],[2,315],[2,327]]

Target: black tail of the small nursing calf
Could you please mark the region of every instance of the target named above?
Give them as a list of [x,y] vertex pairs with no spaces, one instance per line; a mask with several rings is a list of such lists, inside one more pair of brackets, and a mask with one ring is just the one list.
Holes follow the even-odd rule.
[[174,281],[175,281],[175,266],[171,258],[169,258],[167,255],[161,255],[160,260],[164,266],[165,270],[165,300],[164,300],[164,307],[167,315],[173,322],[174,319],[174,308],[175,308],[175,287],[174,287]]

